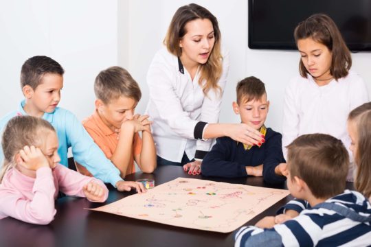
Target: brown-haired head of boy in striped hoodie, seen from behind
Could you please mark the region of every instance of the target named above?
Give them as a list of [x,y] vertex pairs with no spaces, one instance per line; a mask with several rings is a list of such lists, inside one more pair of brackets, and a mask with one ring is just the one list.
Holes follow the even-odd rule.
[[349,155],[339,139],[328,134],[304,134],[288,145],[287,150],[287,187],[293,196],[301,198],[298,185],[302,182],[315,198],[343,193]]

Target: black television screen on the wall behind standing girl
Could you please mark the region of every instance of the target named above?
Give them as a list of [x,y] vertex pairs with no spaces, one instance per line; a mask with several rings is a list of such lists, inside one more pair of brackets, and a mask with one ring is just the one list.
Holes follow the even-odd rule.
[[371,51],[371,0],[249,0],[248,8],[251,49],[296,49],[296,25],[324,13],[351,51]]

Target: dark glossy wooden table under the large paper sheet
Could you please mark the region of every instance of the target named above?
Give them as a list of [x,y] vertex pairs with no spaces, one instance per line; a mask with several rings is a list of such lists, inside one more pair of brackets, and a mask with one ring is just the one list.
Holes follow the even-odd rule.
[[[209,178],[190,176],[181,167],[159,167],[153,174],[138,172],[126,176],[126,180],[139,178],[155,179],[156,185],[178,177],[200,178],[217,182],[239,183],[260,187],[266,185],[262,178]],[[284,185],[276,186],[285,189]],[[134,192],[118,192],[110,189],[104,204],[114,202]],[[255,224],[265,215],[274,215],[291,196],[280,200],[272,207],[247,222]],[[60,198],[56,202],[56,217],[47,226],[27,224],[13,218],[0,220],[0,246],[233,246],[234,233],[214,233],[155,222],[120,217],[110,213],[88,211],[84,208],[102,206],[85,198]]]

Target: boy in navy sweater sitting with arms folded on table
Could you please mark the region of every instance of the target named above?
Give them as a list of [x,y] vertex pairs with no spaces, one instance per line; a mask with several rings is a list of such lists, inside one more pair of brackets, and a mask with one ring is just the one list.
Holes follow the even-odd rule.
[[285,164],[280,164],[286,161],[282,154],[282,134],[264,125],[269,108],[264,83],[251,76],[238,82],[236,91],[234,113],[240,115],[244,124],[260,130],[265,143],[250,146],[229,137],[218,138],[203,159],[202,174],[227,178],[262,176],[267,183],[283,183]]

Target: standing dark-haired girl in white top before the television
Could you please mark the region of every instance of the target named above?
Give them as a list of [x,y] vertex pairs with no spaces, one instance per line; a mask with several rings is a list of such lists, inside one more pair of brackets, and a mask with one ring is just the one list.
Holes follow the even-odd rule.
[[349,147],[348,114],[368,102],[365,82],[350,71],[350,51],[336,24],[325,14],[314,14],[299,23],[294,36],[301,56],[301,76],[291,80],[284,96],[284,156],[285,147],[296,137],[316,132],[331,134]]

